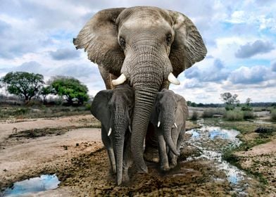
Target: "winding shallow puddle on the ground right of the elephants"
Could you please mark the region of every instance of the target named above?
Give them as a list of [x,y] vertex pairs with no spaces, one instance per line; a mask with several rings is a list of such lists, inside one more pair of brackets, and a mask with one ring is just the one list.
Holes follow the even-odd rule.
[[[246,184],[242,180],[246,179],[246,174],[239,168],[230,165],[222,159],[222,151],[230,146],[239,146],[241,141],[237,139],[239,132],[234,129],[221,129],[220,127],[207,127],[200,122],[200,129],[192,129],[187,134],[192,134],[182,147],[194,146],[201,152],[200,155],[190,156],[187,160],[213,160],[215,167],[224,172],[228,182],[232,184],[234,191],[243,195]],[[219,177],[214,177],[214,180]]]

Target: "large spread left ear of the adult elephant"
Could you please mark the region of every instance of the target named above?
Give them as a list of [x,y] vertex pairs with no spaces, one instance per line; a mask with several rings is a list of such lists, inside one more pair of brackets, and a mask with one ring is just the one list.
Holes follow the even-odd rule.
[[99,11],[84,25],[77,38],[73,39],[76,49],[87,51],[89,60],[119,74],[125,54],[118,44],[115,21],[124,9],[111,8]]

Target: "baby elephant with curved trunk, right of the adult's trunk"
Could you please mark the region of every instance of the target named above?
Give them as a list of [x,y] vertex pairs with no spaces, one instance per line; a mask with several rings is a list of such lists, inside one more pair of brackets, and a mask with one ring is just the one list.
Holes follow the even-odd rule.
[[177,164],[177,156],[180,154],[180,145],[184,140],[188,115],[188,106],[182,96],[168,89],[158,92],[151,122],[158,136],[161,170],[170,170]]

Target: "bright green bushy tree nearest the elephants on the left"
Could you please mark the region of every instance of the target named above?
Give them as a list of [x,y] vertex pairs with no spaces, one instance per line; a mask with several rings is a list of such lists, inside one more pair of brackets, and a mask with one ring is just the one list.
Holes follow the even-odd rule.
[[53,77],[49,85],[54,89],[54,94],[65,97],[69,105],[73,105],[74,101],[83,104],[89,99],[87,86],[73,77]]

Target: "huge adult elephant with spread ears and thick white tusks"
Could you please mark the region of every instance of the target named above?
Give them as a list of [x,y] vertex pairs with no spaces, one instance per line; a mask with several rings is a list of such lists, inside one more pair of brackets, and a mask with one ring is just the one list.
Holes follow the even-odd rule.
[[99,11],[73,42],[99,65],[106,89],[126,80],[134,88],[133,160],[138,172],[147,172],[143,144],[156,94],[203,60],[201,35],[182,13],[138,6]]

